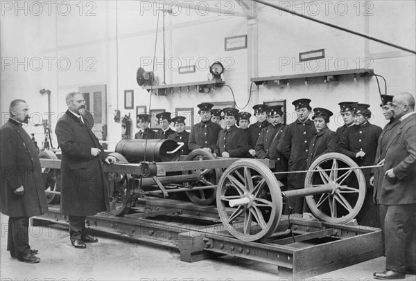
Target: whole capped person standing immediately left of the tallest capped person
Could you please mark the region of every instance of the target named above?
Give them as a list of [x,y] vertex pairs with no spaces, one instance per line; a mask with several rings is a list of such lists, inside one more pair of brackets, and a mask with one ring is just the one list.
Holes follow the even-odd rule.
[[[288,170],[288,161],[277,151],[277,145],[280,142],[284,130],[284,125],[281,124],[281,118],[283,116],[281,107],[281,105],[275,105],[268,108],[270,125],[261,130],[256,143],[256,158],[275,161],[275,167],[271,169],[272,172],[286,172]],[[284,188],[282,189],[286,190],[287,174],[276,174],[275,176],[276,179],[284,184]]]

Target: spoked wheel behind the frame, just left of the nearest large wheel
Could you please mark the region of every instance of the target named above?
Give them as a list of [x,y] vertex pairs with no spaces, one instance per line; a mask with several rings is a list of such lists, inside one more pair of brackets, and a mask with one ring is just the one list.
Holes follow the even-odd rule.
[[[187,156],[187,161],[204,161],[214,160],[216,157],[211,152],[203,149],[195,149]],[[198,181],[190,183],[193,187],[217,185],[222,170],[209,168],[204,170],[184,171],[184,174],[193,173],[198,176]],[[189,200],[199,205],[209,205],[216,198],[216,188],[208,188],[203,190],[190,190],[185,192]]]

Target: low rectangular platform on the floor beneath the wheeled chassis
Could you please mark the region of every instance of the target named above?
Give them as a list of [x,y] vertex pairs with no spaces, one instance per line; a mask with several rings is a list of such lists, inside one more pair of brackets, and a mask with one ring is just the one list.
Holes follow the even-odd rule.
[[[51,224],[67,224],[59,206],[33,218],[34,226]],[[87,217],[87,224],[92,232],[176,248],[184,262],[231,255],[275,264],[279,276],[290,278],[310,278],[383,255],[379,228],[282,216],[268,239],[248,242],[228,233],[216,206],[154,197],[139,199],[124,217],[99,213]]]

